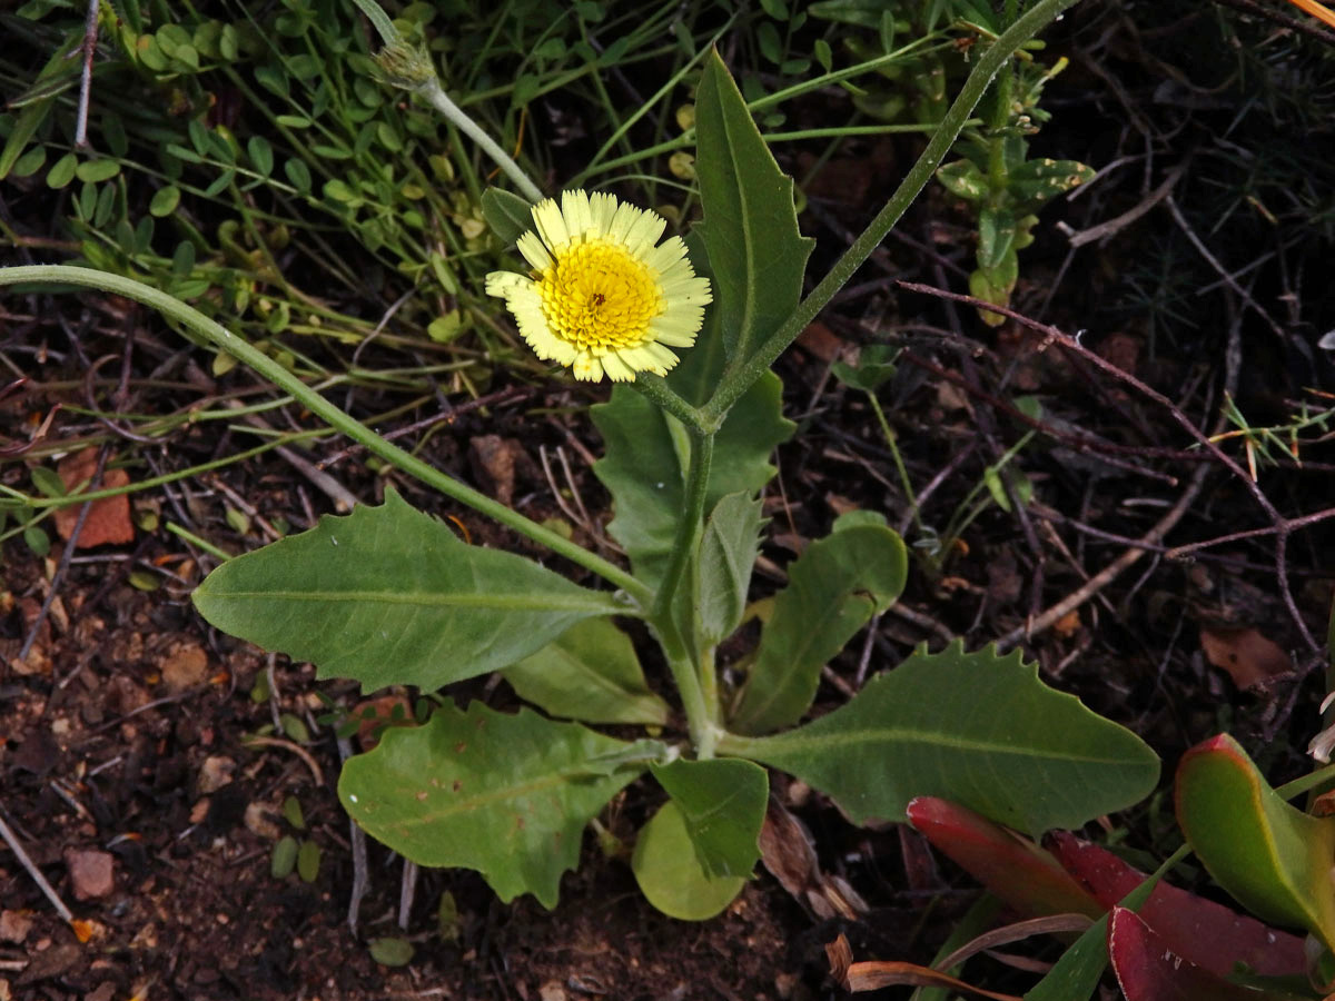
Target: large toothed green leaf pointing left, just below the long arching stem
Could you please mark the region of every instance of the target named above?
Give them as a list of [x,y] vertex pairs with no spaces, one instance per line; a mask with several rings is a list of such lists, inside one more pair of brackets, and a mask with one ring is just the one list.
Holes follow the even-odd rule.
[[223,631],[367,691],[486,674],[581,619],[625,611],[523,557],[461,542],[392,490],[223,563],[194,601]]

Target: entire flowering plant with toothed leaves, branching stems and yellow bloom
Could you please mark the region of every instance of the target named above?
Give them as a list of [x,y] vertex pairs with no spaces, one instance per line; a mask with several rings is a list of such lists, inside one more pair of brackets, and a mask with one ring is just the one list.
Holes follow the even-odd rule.
[[[443,699],[421,726],[388,729],[344,765],[347,811],[409,860],[475,869],[502,900],[531,893],[553,908],[585,826],[647,774],[663,797],[631,868],[654,906],[708,918],[760,857],[765,766],[828,794],[854,822],[901,819],[910,797],[939,795],[1028,831],[1076,826],[1145,795],[1159,763],[1135,734],[1045,687],[1019,653],[920,650],[802,723],[824,665],[905,585],[904,543],[877,513],[845,514],[789,566],[758,642],[732,665],[745,667],[742,681],[729,683],[718,665],[748,618],[770,454],[794,430],[772,363],[926,184],[996,72],[1071,3],[1039,0],[987,47],[922,157],[805,299],[812,240],[798,231],[793,182],[717,53],[696,101],[705,218],[685,242],[658,243],[661,220],[606,196],[566,192],[534,207],[489,192],[489,223],[518,240],[530,270],[494,272],[487,291],[541,356],[617,382],[593,408],[605,442],[594,472],[629,569],[431,468],[163,292],[71,267],[9,268],[0,284],[147,303],[374,455],[585,571],[577,583],[469,545],[390,491],[379,507],[224,562],[195,591],[208,622],[314,662],[322,678],[437,691],[499,671],[535,707]],[[618,619],[647,627],[674,699],[650,685]],[[606,725],[642,735],[595,729]]]

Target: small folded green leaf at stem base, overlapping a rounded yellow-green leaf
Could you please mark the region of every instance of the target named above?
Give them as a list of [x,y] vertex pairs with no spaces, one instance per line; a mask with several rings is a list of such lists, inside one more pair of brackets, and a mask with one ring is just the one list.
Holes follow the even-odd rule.
[[650,771],[673,798],[708,877],[750,876],[760,858],[769,775],[738,758],[677,759]]

